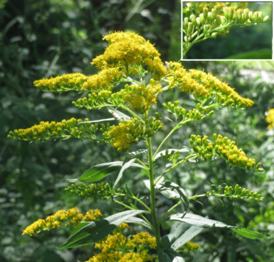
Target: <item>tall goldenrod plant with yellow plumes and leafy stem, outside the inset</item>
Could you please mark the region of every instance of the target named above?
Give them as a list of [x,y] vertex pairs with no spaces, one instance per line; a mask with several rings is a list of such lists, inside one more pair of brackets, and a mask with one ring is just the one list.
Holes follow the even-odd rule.
[[[184,254],[180,254],[182,246],[201,233],[203,228],[221,227],[232,230],[243,237],[263,239],[269,237],[267,233],[254,231],[251,228],[228,225],[190,213],[191,200],[214,196],[262,201],[260,194],[249,189],[242,189],[225,185],[218,187],[216,192],[188,196],[184,185],[177,185],[167,181],[166,174],[188,161],[212,162],[223,159],[231,168],[241,168],[249,172],[261,172],[261,163],[248,157],[238,148],[236,142],[221,134],[191,135],[189,147],[164,148],[166,141],[175,132],[184,132],[188,122],[199,125],[205,118],[214,114],[214,109],[227,107],[230,109],[248,109],[253,101],[240,96],[228,83],[214,77],[211,73],[201,70],[186,70],[177,62],[165,62],[160,59],[160,53],[149,41],[134,33],[116,32],[104,36],[108,41],[103,55],[97,56],[92,64],[99,68],[99,73],[91,77],[75,73],[51,77],[34,82],[34,86],[44,92],[88,91],[87,97],[73,101],[73,105],[88,110],[106,109],[112,115],[107,119],[88,118],[76,120],[61,120],[60,122],[40,122],[28,129],[10,131],[8,137],[23,141],[45,141],[49,139],[80,139],[95,140],[113,146],[125,156],[124,161],[110,163],[94,163],[77,179],[69,180],[72,185],[66,188],[71,194],[78,194],[84,198],[98,200],[112,200],[117,207],[120,205],[126,211],[121,211],[102,220],[85,220],[80,215],[67,216],[63,223],[79,222],[67,241],[58,249],[76,248],[97,243],[108,237],[122,223],[135,223],[147,228],[155,236],[155,248],[159,262],[184,261]],[[173,123],[173,129],[158,145],[153,144],[153,136],[162,131],[162,116],[157,112],[158,96],[167,90],[178,90],[191,94],[193,109],[188,112],[180,101],[166,101],[162,107]],[[119,122],[110,124],[111,121]],[[139,148],[132,152],[132,144]],[[145,148],[143,148],[145,146]],[[170,163],[166,170],[155,177],[158,170],[158,159],[165,159]],[[145,185],[149,189],[150,202],[144,200],[142,192],[134,194],[127,185],[119,183],[127,168],[140,168],[140,174],[146,176]],[[98,183],[109,174],[116,172],[116,181],[112,183]],[[82,183],[79,184],[79,181]],[[118,185],[120,188],[118,188]],[[155,192],[166,198],[176,200],[176,204],[159,217],[155,208]],[[128,203],[127,199],[132,202]],[[182,213],[176,212],[176,207],[184,207]],[[62,217],[62,213],[60,214]],[[98,214],[97,214],[98,215]],[[81,221],[80,221],[81,220]],[[160,235],[160,225],[164,222],[174,222],[169,235]],[[49,225],[40,222],[38,231],[42,228],[54,227],[51,220]],[[59,224],[56,224],[57,227]],[[30,228],[34,232],[34,228]],[[27,229],[24,231],[27,233]],[[32,233],[32,231],[30,231]],[[102,243],[102,242],[99,242]],[[102,246],[103,250],[103,246]],[[178,251],[178,252],[177,252]],[[183,252],[184,253],[184,252]],[[92,261],[92,260],[91,260]],[[96,261],[96,260],[93,260]],[[114,261],[120,261],[118,258]],[[137,261],[137,260],[136,260]],[[144,258],[140,261],[145,261]]]

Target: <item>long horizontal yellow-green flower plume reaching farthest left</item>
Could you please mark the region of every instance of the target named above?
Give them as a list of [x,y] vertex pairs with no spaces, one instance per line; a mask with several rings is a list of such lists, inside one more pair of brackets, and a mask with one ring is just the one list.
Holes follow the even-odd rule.
[[[88,121],[88,118],[85,119]],[[79,124],[76,127],[77,122],[82,122],[81,119],[76,120],[71,118],[70,120],[62,120],[62,122],[40,122],[40,125],[34,125],[28,129],[16,129],[14,133],[10,131],[8,138],[19,140],[49,140],[76,137],[81,139],[96,139],[97,137],[92,134],[96,132],[94,126],[90,127],[90,124],[86,123],[84,126]],[[98,125],[97,125],[98,126]],[[65,131],[68,133],[66,134]],[[87,136],[84,136],[87,135]]]

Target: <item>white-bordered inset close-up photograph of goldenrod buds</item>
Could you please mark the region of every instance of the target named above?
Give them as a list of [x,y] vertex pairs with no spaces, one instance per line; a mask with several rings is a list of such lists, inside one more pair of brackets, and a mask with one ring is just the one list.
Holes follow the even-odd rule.
[[272,8],[272,1],[182,1],[182,60],[273,60]]

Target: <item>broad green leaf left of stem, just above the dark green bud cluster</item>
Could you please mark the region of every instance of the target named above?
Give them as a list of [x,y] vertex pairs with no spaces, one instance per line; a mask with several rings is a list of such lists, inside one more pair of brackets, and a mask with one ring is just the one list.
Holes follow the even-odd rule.
[[[86,170],[79,179],[68,179],[69,182],[74,183],[76,181],[83,181],[83,182],[96,182],[103,179],[105,176],[109,174],[121,170],[123,166],[122,161],[110,162],[110,163],[100,163],[99,165],[92,166],[89,170]],[[132,164],[132,166],[138,168],[144,168],[142,165],[138,163]]]

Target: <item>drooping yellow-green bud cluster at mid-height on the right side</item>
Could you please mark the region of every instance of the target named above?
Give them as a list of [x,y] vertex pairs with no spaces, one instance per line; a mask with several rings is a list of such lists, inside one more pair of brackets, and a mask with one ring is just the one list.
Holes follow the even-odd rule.
[[229,166],[233,165],[242,169],[255,169],[256,171],[263,171],[260,166],[262,163],[256,165],[256,160],[248,158],[242,149],[236,146],[236,142],[228,140],[227,137],[223,135],[213,135],[213,143],[208,141],[208,136],[204,135],[191,135],[190,144],[193,150],[197,153],[200,159],[204,161],[214,161],[216,156],[219,156],[227,163]]

